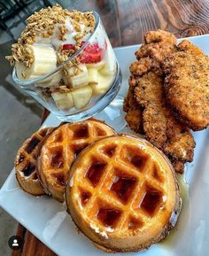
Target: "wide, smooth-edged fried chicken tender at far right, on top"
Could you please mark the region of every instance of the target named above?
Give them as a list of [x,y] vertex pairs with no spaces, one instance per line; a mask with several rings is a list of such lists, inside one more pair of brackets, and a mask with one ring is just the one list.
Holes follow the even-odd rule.
[[166,58],[166,98],[174,112],[193,130],[209,125],[209,58],[189,41]]

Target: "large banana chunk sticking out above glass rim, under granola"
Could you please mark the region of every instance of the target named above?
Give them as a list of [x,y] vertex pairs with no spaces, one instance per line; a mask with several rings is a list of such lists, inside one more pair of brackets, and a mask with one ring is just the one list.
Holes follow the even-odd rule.
[[16,61],[17,75],[21,80],[34,79],[48,74],[57,67],[56,51],[49,45],[34,44],[27,46],[34,55],[34,62],[27,67],[23,62]]

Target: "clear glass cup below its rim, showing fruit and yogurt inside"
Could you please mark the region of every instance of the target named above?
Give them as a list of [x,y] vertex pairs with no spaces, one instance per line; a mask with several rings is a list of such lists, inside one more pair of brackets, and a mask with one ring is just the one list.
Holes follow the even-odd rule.
[[[55,70],[26,80],[19,79],[17,68],[13,68],[13,81],[59,120],[88,119],[109,105],[120,90],[120,66],[99,15],[97,12],[93,15],[96,19],[94,32]],[[99,61],[91,62],[92,56],[99,56]],[[85,78],[76,77],[74,71],[78,64]],[[83,79],[85,84],[79,84]]]

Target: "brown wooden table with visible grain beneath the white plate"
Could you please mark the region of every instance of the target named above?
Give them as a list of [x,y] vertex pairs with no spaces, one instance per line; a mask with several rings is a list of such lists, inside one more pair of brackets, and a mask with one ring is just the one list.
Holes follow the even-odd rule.
[[[208,0],[83,0],[72,2],[74,3],[68,6],[70,9],[95,10],[100,14],[114,47],[143,43],[143,34],[158,28],[170,31],[177,37],[209,33]],[[48,114],[47,111],[43,112],[43,120]],[[21,225],[19,225],[17,235],[22,237],[25,243],[22,249],[12,252],[12,256],[56,256]]]

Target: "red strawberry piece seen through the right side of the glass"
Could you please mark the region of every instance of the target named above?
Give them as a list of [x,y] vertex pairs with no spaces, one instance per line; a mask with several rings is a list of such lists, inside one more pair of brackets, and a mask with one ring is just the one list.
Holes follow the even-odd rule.
[[81,63],[97,63],[102,60],[104,49],[98,43],[89,44],[81,53]]

